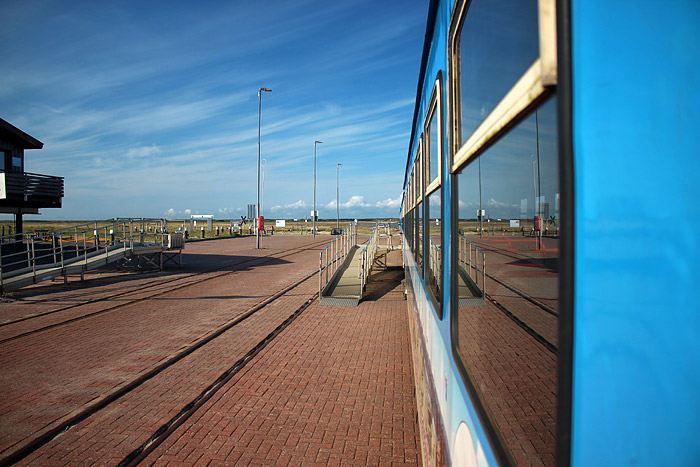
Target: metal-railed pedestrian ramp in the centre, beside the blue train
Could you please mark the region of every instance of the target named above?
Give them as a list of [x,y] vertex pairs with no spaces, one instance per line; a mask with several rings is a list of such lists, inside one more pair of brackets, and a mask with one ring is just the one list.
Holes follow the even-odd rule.
[[[391,227],[373,225],[369,238],[361,244],[357,241],[357,228],[357,224],[349,224],[321,251],[321,305],[357,306],[365,294],[373,268],[381,263],[382,257],[386,264],[386,255],[392,249]],[[383,239],[386,239],[386,245],[382,247]]]

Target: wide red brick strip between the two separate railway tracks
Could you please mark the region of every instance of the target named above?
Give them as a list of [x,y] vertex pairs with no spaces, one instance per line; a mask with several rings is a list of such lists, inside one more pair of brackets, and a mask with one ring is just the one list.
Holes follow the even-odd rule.
[[[207,243],[220,253],[236,241]],[[318,248],[308,250],[0,345],[0,456],[315,270],[317,258]]]

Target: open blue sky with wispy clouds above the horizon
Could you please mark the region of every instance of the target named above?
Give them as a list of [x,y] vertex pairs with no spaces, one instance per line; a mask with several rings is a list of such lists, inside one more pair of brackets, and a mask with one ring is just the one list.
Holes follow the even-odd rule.
[[0,117],[65,177],[31,219],[396,217],[427,0],[2,2]]

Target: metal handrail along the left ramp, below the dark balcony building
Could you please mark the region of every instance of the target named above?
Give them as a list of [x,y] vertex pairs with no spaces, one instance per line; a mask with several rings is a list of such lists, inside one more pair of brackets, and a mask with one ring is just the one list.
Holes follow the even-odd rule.
[[[142,228],[135,232],[133,225]],[[165,219],[111,219],[54,231],[22,232],[0,236],[0,286],[10,276],[82,262],[135,244],[167,245]],[[144,230],[145,228],[145,230]],[[134,236],[138,234],[138,241]]]

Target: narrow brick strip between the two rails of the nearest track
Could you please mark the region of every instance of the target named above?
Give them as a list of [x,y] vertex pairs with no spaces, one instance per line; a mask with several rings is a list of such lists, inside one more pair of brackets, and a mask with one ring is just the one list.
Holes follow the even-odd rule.
[[316,278],[308,279],[54,439],[28,457],[26,464],[118,464],[293,314],[317,288]]

